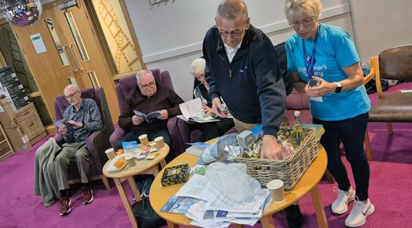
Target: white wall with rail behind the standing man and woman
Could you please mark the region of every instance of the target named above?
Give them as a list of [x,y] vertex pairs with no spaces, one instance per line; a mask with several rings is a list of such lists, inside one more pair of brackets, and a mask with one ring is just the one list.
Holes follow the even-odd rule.
[[[143,59],[148,68],[170,71],[176,92],[192,99],[193,77],[190,63],[202,55],[203,37],[214,25],[221,0],[170,0],[150,5],[150,1],[125,0]],[[244,0],[251,23],[262,29],[273,44],[293,34],[284,16],[284,0]],[[347,0],[323,0],[323,22],[353,34]]]

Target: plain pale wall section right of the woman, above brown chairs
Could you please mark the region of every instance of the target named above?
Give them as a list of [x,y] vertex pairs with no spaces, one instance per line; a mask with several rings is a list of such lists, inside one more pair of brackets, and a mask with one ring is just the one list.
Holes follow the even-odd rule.
[[412,44],[411,0],[350,0],[362,62],[385,49]]

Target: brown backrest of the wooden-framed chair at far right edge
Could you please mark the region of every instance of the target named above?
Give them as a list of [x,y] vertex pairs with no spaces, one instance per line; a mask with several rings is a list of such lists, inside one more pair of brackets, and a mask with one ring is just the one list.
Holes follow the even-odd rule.
[[384,79],[412,79],[412,45],[387,49],[379,54],[379,76]]

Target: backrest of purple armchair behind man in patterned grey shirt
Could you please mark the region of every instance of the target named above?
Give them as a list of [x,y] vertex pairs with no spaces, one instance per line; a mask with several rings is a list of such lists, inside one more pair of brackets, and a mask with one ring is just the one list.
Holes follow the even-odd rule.
[[[80,91],[82,92],[82,98],[89,98],[89,99],[93,99],[96,101],[99,107],[100,116],[102,118],[103,125],[105,125],[106,122],[111,123],[113,125],[111,121],[111,116],[108,110],[102,109],[103,88],[84,88]],[[63,118],[63,115],[65,114],[65,110],[67,109],[67,107],[69,107],[69,105],[70,104],[67,101],[65,94],[60,94],[54,99],[54,120],[55,121],[61,120]],[[107,112],[108,115],[105,112]],[[108,120],[108,118],[110,118],[110,120]],[[57,129],[56,129],[56,132],[57,132]]]

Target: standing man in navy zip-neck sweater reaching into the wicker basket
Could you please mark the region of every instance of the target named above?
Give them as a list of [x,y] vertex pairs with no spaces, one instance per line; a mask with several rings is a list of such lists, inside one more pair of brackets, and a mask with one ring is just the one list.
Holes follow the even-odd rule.
[[[262,124],[261,157],[282,159],[276,136],[284,119],[286,89],[277,68],[271,40],[250,24],[247,5],[240,0],[219,4],[216,25],[203,40],[205,78],[209,84],[212,108],[227,117],[220,97],[233,115],[238,131]],[[286,207],[289,227],[301,227],[299,205]]]

